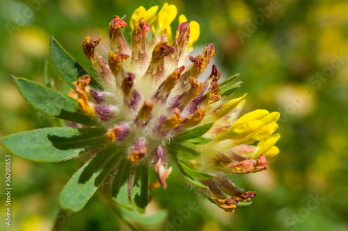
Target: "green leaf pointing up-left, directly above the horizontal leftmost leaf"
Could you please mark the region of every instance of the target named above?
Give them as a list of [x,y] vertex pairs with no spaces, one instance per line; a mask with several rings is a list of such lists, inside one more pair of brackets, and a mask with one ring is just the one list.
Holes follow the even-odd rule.
[[99,124],[93,117],[81,113],[76,99],[26,78],[15,78],[15,81],[24,99],[33,105],[35,109],[52,117],[75,123],[88,126]]

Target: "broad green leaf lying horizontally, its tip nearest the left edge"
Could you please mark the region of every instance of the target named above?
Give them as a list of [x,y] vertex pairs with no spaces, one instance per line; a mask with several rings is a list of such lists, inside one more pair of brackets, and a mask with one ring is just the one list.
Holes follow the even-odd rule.
[[44,128],[3,137],[1,146],[27,160],[57,162],[99,148],[104,133],[100,128]]

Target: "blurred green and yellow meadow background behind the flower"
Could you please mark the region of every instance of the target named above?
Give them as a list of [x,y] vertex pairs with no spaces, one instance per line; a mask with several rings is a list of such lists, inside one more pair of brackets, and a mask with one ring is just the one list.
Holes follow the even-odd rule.
[[[113,15],[127,15],[129,22],[140,5],[164,2],[1,0],[0,136],[50,126],[49,117],[22,99],[10,74],[42,83],[51,35],[90,69],[81,50],[84,37],[101,36],[99,48],[105,55]],[[199,199],[174,171],[166,190],[152,192],[150,212],[168,209],[166,223],[152,229],[348,230],[348,1],[168,2],[200,23],[194,52],[212,42],[223,78],[241,73],[244,83],[235,96],[248,92],[245,112],[280,112],[282,137],[269,170],[231,176],[240,187],[258,192],[252,205],[234,214],[223,212]],[[66,92],[50,60],[49,75],[56,89]],[[0,153],[3,169],[6,152],[0,148]],[[58,211],[59,192],[79,166],[78,160],[45,164],[12,156],[13,220],[9,228],[1,218],[0,230],[47,230]],[[3,188],[4,170],[1,174]],[[3,214],[3,194],[0,198]],[[183,216],[192,202],[198,209]],[[66,230],[127,226],[95,196],[70,216]]]

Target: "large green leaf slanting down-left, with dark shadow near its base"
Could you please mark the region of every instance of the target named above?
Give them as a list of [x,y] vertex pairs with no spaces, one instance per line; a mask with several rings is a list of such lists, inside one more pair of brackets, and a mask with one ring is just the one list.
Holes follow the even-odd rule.
[[[74,173],[61,191],[59,201],[64,209],[72,212],[81,210],[115,166],[120,155],[116,146],[109,145],[105,146],[95,158]],[[89,175],[86,172],[92,174]]]

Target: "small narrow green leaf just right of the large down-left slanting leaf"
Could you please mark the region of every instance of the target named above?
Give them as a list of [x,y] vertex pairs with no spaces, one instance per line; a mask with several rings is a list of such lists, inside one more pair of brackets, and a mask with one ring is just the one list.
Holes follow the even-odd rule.
[[128,179],[131,173],[132,164],[125,158],[118,165],[118,171],[111,186],[111,195],[113,200],[126,209],[132,209],[128,198]]

